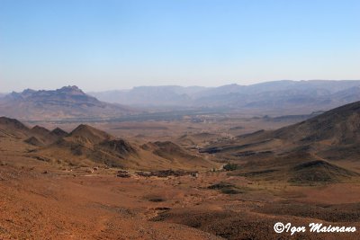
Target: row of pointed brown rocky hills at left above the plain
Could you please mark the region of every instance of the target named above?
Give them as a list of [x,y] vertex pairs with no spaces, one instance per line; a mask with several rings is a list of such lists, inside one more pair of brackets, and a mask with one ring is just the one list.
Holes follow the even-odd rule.
[[27,157],[62,166],[103,165],[152,171],[211,169],[217,165],[170,141],[139,146],[85,124],[67,133],[58,128],[29,128],[19,120],[1,117],[0,140],[4,148],[16,145],[27,149]]

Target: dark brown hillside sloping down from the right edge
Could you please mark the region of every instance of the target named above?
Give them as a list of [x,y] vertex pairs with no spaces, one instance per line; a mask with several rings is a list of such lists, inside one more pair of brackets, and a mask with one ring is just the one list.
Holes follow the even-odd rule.
[[[338,181],[360,169],[360,102],[282,129],[257,131],[201,151],[242,164],[242,174],[289,181]],[[347,177],[346,177],[347,176]]]

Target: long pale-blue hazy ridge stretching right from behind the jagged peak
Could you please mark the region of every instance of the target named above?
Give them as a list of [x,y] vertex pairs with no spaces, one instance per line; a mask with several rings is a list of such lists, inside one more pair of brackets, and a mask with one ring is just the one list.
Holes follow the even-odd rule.
[[275,81],[220,87],[140,86],[128,91],[89,93],[105,102],[125,105],[226,107],[229,109],[328,110],[360,100],[360,81]]

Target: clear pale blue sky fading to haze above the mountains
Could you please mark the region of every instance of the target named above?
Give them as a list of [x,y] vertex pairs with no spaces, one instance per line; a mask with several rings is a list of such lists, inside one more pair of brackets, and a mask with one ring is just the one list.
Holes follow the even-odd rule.
[[0,92],[360,79],[360,1],[0,0]]

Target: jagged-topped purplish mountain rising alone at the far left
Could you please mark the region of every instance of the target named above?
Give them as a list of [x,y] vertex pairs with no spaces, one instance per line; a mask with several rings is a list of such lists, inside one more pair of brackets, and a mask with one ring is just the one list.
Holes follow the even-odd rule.
[[20,120],[101,119],[132,112],[120,104],[100,102],[76,86],[51,91],[27,89],[9,93],[0,100],[1,115]]

